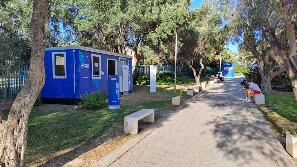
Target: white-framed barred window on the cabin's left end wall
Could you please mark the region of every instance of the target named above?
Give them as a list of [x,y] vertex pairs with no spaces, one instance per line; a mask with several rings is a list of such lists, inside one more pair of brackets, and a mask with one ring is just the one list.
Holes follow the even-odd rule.
[[54,52],[53,78],[67,78],[66,76],[66,52]]

